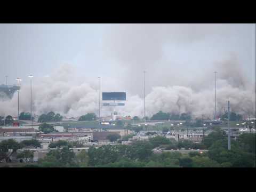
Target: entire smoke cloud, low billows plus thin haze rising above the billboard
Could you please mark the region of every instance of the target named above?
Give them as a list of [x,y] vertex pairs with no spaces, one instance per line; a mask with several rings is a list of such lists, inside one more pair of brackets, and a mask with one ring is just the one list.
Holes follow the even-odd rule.
[[[202,115],[212,118],[213,71],[218,71],[218,114],[223,113],[229,99],[231,110],[245,117],[255,116],[255,69],[248,76],[243,68],[243,62],[247,61],[239,54],[243,50],[232,42],[237,39],[242,46],[244,39],[230,37],[230,31],[234,30],[234,25],[219,24],[111,25],[103,37],[102,57],[113,61],[109,66],[111,71],[121,68],[122,74],[114,80],[102,77],[101,91],[125,89],[127,101],[125,106],[116,107],[118,114],[143,117],[143,70],[146,70],[146,116],[162,110],[175,114],[189,111],[193,118]],[[245,34],[243,28],[239,30]],[[253,59],[255,62],[255,55]],[[67,117],[98,114],[97,81],[76,77],[74,66],[65,65],[48,77],[33,79],[34,113],[54,111]],[[30,111],[29,84],[21,86],[21,111]],[[101,107],[102,116],[110,113],[110,107]],[[17,116],[17,93],[11,100],[0,101],[0,115],[9,114]]]

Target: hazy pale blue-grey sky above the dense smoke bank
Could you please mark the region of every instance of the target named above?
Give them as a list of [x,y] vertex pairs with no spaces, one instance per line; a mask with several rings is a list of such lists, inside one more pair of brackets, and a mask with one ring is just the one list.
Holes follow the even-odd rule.
[[29,74],[49,75],[68,63],[74,78],[117,79],[134,93],[143,69],[150,76],[148,91],[153,85],[188,85],[218,71],[216,63],[231,54],[253,80],[254,24],[0,24],[1,84],[5,75],[10,83],[16,77],[26,83]]

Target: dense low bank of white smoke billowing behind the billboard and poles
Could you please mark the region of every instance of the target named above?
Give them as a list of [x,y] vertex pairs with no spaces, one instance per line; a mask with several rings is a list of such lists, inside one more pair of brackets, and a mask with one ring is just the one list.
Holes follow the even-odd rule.
[[[71,66],[63,66],[49,77],[38,79],[33,86],[33,111],[35,114],[54,111],[67,117],[86,113],[98,114],[98,90],[89,83],[76,84]],[[233,81],[232,81],[233,82]],[[254,92],[255,93],[255,92]],[[218,80],[217,109],[230,100],[231,110],[246,116],[253,116],[253,91],[247,91],[229,84],[225,79]],[[20,112],[30,111],[30,86],[21,86]],[[17,93],[11,100],[0,101],[0,114],[17,116]],[[102,102],[101,102],[102,103]],[[194,118],[213,117],[214,90],[194,91],[185,86],[156,86],[146,96],[146,115],[152,116],[159,110],[170,113],[189,113]],[[143,98],[127,93],[125,106],[116,107],[120,115],[143,116]],[[110,115],[111,108],[101,106],[102,115]]]

